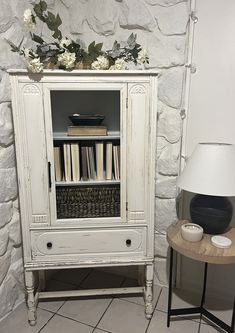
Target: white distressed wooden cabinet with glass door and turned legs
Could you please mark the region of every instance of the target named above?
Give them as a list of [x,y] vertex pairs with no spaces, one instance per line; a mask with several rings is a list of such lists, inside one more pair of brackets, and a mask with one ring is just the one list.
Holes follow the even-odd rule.
[[[9,73],[30,324],[36,322],[40,298],[99,294],[143,293],[150,318],[157,73]],[[108,135],[68,136],[68,116],[74,113],[103,114]],[[108,142],[120,146],[120,170],[116,177],[113,166],[113,177],[106,180]],[[73,143],[80,149],[80,178],[56,181],[54,147],[60,147],[63,164],[64,147]],[[81,148],[93,147],[95,161],[97,143],[102,146],[104,176],[87,179]],[[86,163],[91,163],[89,158]],[[49,269],[131,265],[145,268],[138,287],[48,292],[35,283]]]

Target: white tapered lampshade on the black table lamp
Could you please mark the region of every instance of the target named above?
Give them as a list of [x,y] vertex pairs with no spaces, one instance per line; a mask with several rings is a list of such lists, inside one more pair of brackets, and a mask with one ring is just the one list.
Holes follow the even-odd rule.
[[198,194],[235,196],[235,146],[199,143],[178,177],[177,185]]

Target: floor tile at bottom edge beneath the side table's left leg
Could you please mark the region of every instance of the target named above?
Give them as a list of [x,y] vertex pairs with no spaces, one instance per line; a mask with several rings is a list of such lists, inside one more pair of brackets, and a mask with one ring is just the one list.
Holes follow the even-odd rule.
[[197,333],[199,328],[199,323],[181,317],[171,320],[170,327],[167,327],[166,324],[166,313],[155,311],[147,333]]

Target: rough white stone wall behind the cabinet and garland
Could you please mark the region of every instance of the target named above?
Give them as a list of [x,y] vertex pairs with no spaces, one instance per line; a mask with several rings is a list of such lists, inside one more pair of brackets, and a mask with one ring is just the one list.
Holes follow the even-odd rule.
[[[190,1],[190,0],[188,0]],[[167,280],[165,232],[176,219],[176,175],[181,138],[181,100],[187,46],[189,3],[184,0],[48,0],[63,20],[64,35],[95,40],[110,48],[131,32],[148,51],[150,68],[159,68],[156,151],[156,281]],[[16,165],[7,69],[22,68],[6,40],[29,46],[21,17],[34,0],[1,0],[0,11],[0,318],[23,299],[22,249]],[[47,30],[41,28],[42,34]]]

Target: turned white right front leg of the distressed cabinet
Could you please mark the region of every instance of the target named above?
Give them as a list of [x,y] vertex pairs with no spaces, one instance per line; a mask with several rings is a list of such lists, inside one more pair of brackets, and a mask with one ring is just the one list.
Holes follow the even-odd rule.
[[153,264],[146,265],[145,279],[145,315],[147,319],[153,314]]

